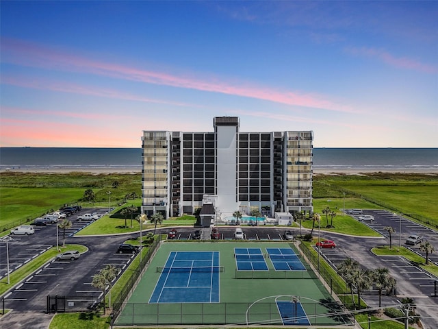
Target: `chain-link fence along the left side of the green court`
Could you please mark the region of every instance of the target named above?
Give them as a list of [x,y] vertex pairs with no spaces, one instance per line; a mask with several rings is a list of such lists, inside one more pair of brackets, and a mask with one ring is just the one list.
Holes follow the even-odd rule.
[[133,288],[136,287],[136,284],[138,280],[140,280],[144,269],[146,269],[146,267],[149,266],[149,264],[151,263],[151,259],[157,251],[159,243],[161,243],[163,239],[166,238],[162,234],[157,234],[155,236],[155,241],[153,241],[153,243],[149,245],[148,251],[144,256],[142,256],[142,260],[135,268],[129,269],[130,271],[132,271],[133,275],[131,276],[131,278],[129,278],[128,282],[126,282],[122,291],[120,291],[112,304],[112,312],[114,317],[117,317],[120,314],[121,310],[123,309],[123,302],[127,300],[128,295],[131,293]]

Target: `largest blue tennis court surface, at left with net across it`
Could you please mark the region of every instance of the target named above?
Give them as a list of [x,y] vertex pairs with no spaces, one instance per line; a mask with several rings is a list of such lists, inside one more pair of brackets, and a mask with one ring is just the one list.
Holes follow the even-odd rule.
[[170,252],[149,303],[218,303],[219,252]]

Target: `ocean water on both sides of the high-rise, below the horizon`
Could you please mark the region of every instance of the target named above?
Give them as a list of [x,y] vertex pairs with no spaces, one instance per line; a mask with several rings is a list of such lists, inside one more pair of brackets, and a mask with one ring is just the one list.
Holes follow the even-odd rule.
[[[0,170],[118,169],[141,171],[140,148],[0,147]],[[313,169],[438,171],[438,148],[315,148]]]

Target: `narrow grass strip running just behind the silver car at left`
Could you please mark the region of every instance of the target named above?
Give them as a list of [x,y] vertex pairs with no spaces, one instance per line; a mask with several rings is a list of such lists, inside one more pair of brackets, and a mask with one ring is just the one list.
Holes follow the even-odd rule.
[[[83,245],[66,245],[65,247],[60,247],[61,252],[66,252],[67,250],[78,250],[81,254],[88,250],[87,247]],[[8,291],[10,288],[14,287],[15,284],[29,276],[30,273],[36,271],[39,267],[47,263],[51,258],[54,258],[58,252],[56,247],[51,247],[51,249],[46,250],[38,257],[29,261],[16,271],[10,273],[10,284],[8,284],[8,276],[5,276],[0,280],[0,295]]]

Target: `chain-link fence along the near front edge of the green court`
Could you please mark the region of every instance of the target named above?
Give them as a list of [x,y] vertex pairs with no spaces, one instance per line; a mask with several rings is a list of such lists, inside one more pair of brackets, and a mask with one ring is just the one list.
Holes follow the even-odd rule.
[[[300,302],[305,314],[281,317],[276,302],[258,303],[128,303],[116,326],[261,325],[283,326],[306,317],[312,326],[352,326],[352,318],[336,302]],[[344,327],[344,328],[345,328]]]

